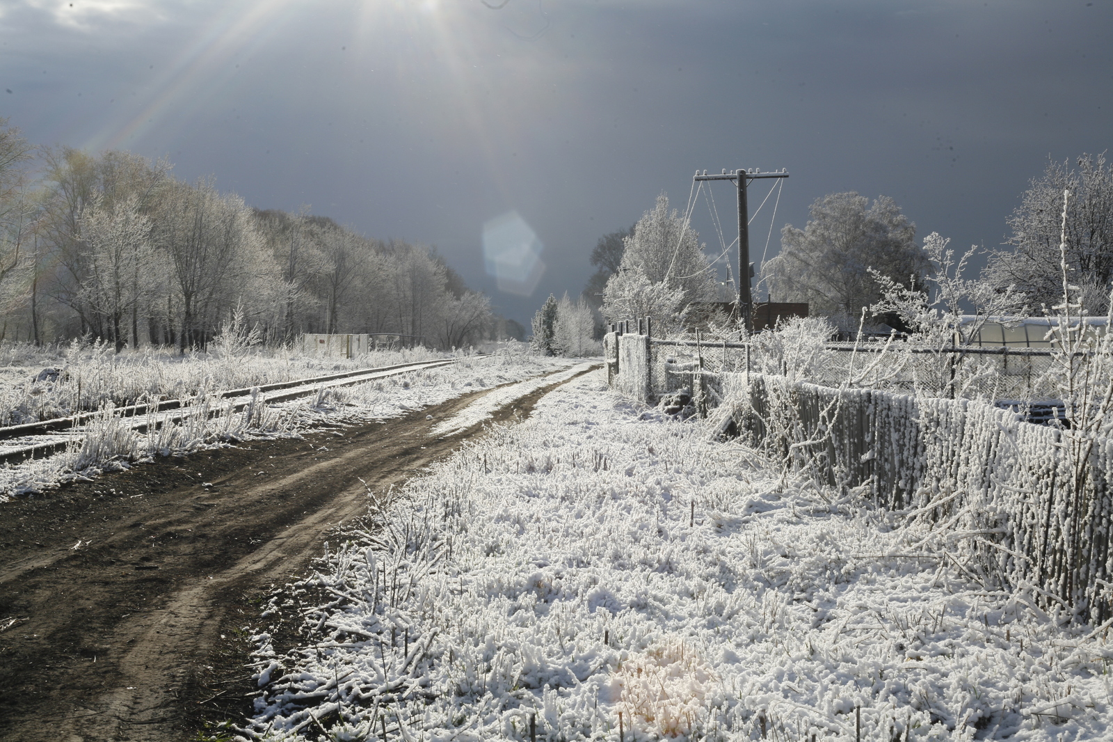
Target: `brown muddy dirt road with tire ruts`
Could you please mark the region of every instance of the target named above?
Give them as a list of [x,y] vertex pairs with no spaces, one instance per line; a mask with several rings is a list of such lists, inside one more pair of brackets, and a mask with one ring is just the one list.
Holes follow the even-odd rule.
[[191,740],[243,719],[255,691],[243,628],[268,588],[359,518],[368,488],[385,494],[475,435],[429,429],[481,393],[0,505],[0,740]]

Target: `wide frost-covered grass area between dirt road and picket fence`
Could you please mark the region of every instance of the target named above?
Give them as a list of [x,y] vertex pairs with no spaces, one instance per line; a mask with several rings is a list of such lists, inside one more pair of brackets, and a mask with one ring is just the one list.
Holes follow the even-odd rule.
[[1113,734],[1103,633],[639,412],[588,374],[334,539],[264,614],[243,734],[853,740],[856,709],[886,742]]

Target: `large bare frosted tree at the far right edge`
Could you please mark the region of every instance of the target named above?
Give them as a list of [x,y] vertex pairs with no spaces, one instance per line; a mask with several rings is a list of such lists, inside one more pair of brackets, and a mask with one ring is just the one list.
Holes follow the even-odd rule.
[[[1050,310],[1063,301],[1060,244],[1065,237],[1067,272],[1083,313],[1105,314],[1113,281],[1113,164],[1104,154],[1075,162],[1077,169],[1068,160],[1048,162],[1032,180],[1008,218],[1008,246],[993,253],[988,275],[999,287],[1015,285],[1033,310]],[[1065,231],[1064,191],[1071,192]]]

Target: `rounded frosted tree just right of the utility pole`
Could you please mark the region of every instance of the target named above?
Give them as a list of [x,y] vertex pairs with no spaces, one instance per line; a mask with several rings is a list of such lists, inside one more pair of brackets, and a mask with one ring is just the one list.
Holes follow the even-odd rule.
[[785,225],[780,254],[762,270],[760,283],[777,301],[807,302],[811,314],[857,328],[861,309],[881,296],[870,269],[917,283],[929,269],[916,226],[887,196],[870,204],[853,192],[828,194],[811,204],[808,216],[804,230]]

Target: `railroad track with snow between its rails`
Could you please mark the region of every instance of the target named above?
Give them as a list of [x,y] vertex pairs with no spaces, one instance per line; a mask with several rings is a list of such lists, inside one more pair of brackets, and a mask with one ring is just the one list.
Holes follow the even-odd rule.
[[[482,358],[482,355],[473,358]],[[459,359],[445,359],[440,361],[420,361],[416,363],[397,363],[375,369],[332,373],[311,379],[260,384],[247,389],[232,389],[220,392],[217,397],[234,400],[232,407],[234,411],[238,412],[253,403],[253,401],[255,403],[285,402],[299,397],[316,394],[324,388],[348,387],[398,373],[406,373],[407,371],[451,365],[457,361]],[[189,399],[169,399],[147,404],[128,404],[115,408],[111,410],[111,413],[121,418],[131,418],[134,421],[131,429],[146,432],[148,428],[158,429],[164,424],[179,422],[193,414],[197,414],[200,410],[193,407],[193,402],[194,400]],[[221,407],[219,410],[209,410],[208,413],[209,416],[215,416],[227,411],[227,407]],[[41,422],[29,422],[0,428],[0,465],[18,463],[31,458],[41,458],[65,449],[75,439],[79,439],[83,435],[82,427],[87,422],[100,414],[104,414],[104,411],[82,412],[68,418],[56,418]],[[36,438],[40,440],[35,440]],[[41,440],[43,438],[49,438],[49,440]],[[6,443],[4,441],[10,442]]]

